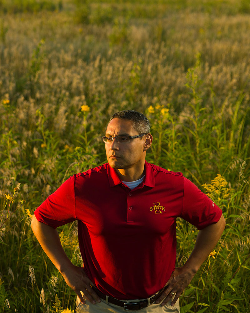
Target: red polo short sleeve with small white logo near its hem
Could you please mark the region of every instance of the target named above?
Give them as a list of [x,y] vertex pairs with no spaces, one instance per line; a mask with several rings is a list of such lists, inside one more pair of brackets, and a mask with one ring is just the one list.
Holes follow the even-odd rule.
[[217,223],[222,215],[222,210],[190,180],[183,178],[184,192],[181,218],[198,229]]

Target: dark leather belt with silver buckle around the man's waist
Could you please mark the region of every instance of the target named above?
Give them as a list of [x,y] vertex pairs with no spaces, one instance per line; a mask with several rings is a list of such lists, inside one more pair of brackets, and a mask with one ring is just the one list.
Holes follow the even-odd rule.
[[[100,290],[98,290],[94,286],[92,286],[92,288],[95,290],[95,292],[98,294],[98,296],[101,299],[106,300],[106,295],[104,295]],[[154,295],[153,297],[150,298],[150,304],[152,304],[153,302],[155,302],[159,298],[159,296],[163,293],[164,289],[165,289],[165,287],[162,290],[160,290],[157,295]],[[118,305],[118,306],[121,306],[124,308],[124,310],[132,310],[132,311],[141,310],[141,309],[145,308],[146,306],[148,306],[148,300],[147,299],[139,301],[139,302],[135,302],[135,303],[132,303],[132,302],[127,303],[127,302],[124,302],[124,301],[121,301],[121,300],[118,300],[118,299],[115,299],[115,298],[112,298],[109,296],[108,302],[115,304],[115,305]]]

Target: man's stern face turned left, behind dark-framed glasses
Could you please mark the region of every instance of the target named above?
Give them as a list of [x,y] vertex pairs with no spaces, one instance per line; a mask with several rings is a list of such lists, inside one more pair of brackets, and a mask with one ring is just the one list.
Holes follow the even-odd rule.
[[[129,120],[123,120],[119,118],[113,118],[108,124],[106,136],[120,136],[139,135],[138,131],[134,129],[133,122]],[[136,166],[138,162],[145,161],[144,151],[145,140],[142,138],[130,139],[128,143],[118,143],[117,139],[113,139],[113,142],[106,142],[106,154],[107,160],[111,167],[118,169],[126,169]]]

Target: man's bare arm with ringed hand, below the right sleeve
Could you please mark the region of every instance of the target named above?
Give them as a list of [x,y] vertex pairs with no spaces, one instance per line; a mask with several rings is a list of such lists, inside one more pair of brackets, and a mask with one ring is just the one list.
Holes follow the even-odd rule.
[[159,297],[156,303],[165,300],[161,305],[165,305],[172,299],[173,294],[176,293],[171,305],[174,305],[183,290],[189,285],[193,276],[200,268],[202,263],[207,259],[212,249],[217,244],[220,236],[225,228],[226,222],[223,217],[215,224],[211,224],[199,231],[194,249],[190,254],[187,262],[182,267],[177,267],[170,276],[163,294]]

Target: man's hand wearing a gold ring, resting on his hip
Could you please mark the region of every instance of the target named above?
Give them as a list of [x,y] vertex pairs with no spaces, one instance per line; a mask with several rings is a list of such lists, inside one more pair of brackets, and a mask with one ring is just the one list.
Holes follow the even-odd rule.
[[173,298],[176,293],[171,305],[175,305],[179,296],[182,294],[183,290],[190,284],[195,272],[190,271],[190,269],[183,267],[177,267],[175,271],[170,276],[167,284],[165,285],[165,290],[162,295],[156,300],[156,303],[160,303],[164,298],[162,306],[165,305],[169,300]]

